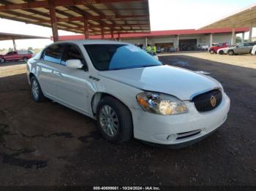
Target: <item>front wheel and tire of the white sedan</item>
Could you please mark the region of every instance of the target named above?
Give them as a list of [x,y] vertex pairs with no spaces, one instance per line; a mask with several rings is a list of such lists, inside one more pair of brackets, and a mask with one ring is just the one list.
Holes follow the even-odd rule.
[[121,101],[106,96],[97,106],[97,128],[112,143],[128,141],[133,136],[132,114]]

